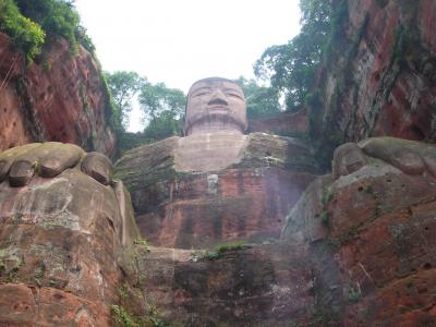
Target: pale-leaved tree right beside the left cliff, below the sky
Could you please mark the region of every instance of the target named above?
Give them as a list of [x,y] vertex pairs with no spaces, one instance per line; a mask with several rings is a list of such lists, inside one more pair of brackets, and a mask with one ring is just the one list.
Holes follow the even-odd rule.
[[118,71],[113,73],[105,72],[110,94],[116,106],[117,120],[123,130],[129,126],[130,113],[133,109],[132,100],[145,83],[136,72]]

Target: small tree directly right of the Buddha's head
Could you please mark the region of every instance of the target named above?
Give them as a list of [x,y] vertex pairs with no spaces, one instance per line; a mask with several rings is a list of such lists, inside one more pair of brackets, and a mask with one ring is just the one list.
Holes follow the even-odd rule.
[[280,94],[277,88],[259,86],[255,80],[246,80],[243,76],[234,82],[244,92],[246,116],[249,118],[267,117],[281,111]]

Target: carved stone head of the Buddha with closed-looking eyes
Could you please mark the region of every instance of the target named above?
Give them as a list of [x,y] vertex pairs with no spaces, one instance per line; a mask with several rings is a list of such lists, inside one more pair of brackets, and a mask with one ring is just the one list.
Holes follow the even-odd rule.
[[230,130],[243,133],[246,129],[244,94],[225,78],[201,80],[187,94],[185,135],[196,132]]

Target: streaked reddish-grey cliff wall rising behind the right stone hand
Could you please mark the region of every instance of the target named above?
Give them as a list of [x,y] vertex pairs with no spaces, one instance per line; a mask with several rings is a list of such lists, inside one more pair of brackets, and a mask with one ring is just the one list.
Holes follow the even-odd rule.
[[324,147],[368,136],[435,141],[435,1],[336,3],[344,9],[341,34],[318,70],[311,108]]

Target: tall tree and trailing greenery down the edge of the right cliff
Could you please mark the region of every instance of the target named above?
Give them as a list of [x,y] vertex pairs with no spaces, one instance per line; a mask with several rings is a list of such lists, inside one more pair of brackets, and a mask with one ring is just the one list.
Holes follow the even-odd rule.
[[[274,87],[280,89],[286,98],[286,109],[298,111],[308,107],[310,129],[306,137],[316,150],[323,170],[330,170],[334,149],[342,142],[342,135],[331,126],[337,120],[335,112],[339,106],[338,92],[335,90],[328,104],[329,116],[323,116],[326,106],[323,90],[316,88],[315,77],[319,64],[328,66],[339,52],[352,57],[353,46],[346,45],[344,35],[348,23],[346,0],[300,0],[301,31],[286,45],[271,46],[265,50],[254,65],[255,74],[269,78]],[[351,49],[351,50],[350,50]],[[346,86],[344,77],[339,76],[338,85]],[[343,81],[342,81],[343,80]],[[322,126],[330,126],[325,130]]]

